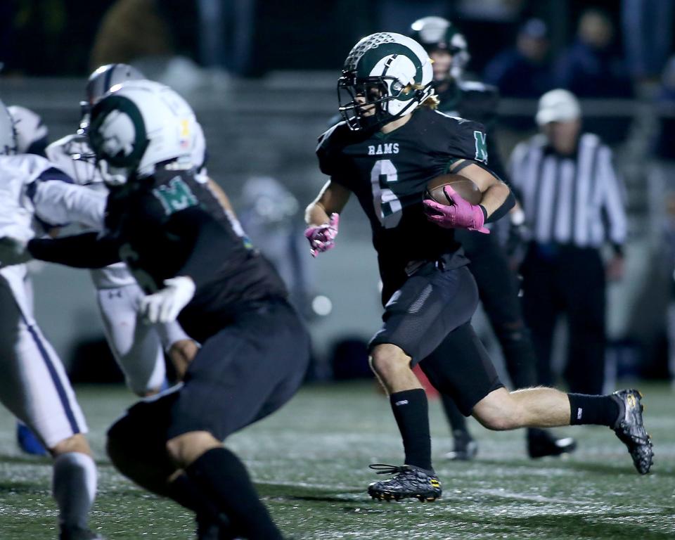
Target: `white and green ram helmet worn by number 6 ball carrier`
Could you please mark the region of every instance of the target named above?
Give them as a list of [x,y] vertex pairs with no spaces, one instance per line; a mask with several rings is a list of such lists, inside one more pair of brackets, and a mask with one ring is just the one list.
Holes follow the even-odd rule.
[[431,60],[417,41],[394,32],[371,34],[345,60],[338,80],[340,113],[354,131],[381,126],[409,115],[431,96],[432,79]]

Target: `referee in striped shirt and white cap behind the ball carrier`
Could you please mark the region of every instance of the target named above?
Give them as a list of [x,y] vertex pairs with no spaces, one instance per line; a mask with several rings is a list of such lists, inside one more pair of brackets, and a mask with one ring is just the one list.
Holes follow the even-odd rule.
[[[558,315],[570,328],[571,392],[600,394],[605,378],[605,283],[623,274],[624,190],[612,152],[581,131],[574,94],[555,89],[539,99],[542,133],[516,146],[513,184],[532,241],[522,263],[523,311],[532,331],[539,383],[552,385],[551,341]],[[610,242],[607,266],[600,254]]]

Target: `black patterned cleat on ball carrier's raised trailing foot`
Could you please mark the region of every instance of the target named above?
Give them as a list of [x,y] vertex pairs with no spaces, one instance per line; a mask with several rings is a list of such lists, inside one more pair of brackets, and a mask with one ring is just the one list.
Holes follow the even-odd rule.
[[612,429],[628,447],[638,473],[646,475],[654,463],[654,450],[642,420],[642,394],[638,390],[619,390],[612,398],[619,404],[619,418]]

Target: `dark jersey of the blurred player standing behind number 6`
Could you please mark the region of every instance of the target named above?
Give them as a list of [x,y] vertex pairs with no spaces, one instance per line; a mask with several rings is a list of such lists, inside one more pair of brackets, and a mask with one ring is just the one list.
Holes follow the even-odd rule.
[[503,167],[501,154],[496,148],[494,129],[497,123],[499,90],[496,86],[482,82],[451,82],[438,93],[441,104],[438,110],[450,116],[460,116],[467,120],[480,122],[487,131],[487,153],[490,156],[490,169],[508,183],[508,175]]

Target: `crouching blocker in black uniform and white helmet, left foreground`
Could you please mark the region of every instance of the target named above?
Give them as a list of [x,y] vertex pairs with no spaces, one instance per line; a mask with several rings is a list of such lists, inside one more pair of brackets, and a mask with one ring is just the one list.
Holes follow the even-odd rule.
[[177,316],[201,343],[182,385],[110,428],[115,466],[194,510],[200,539],[278,539],[243,463],[221,441],[293,396],[309,339],[281,278],[191,167],[194,122],[158,83],[126,82],[108,94],[89,131],[110,186],[105,234],[35,240],[28,250],[71,266],[124,260],[148,293],[146,319]]

